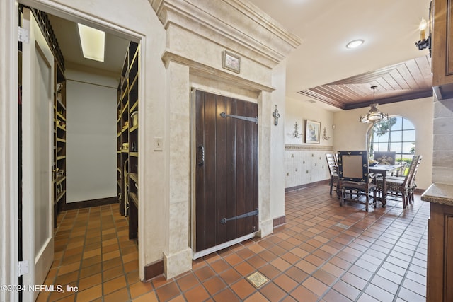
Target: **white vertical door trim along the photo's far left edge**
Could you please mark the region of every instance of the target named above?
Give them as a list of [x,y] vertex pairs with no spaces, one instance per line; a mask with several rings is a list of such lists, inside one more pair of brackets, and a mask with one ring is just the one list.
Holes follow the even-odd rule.
[[[18,284],[18,6],[1,2],[0,33],[0,284]],[[0,301],[18,301],[0,291]]]

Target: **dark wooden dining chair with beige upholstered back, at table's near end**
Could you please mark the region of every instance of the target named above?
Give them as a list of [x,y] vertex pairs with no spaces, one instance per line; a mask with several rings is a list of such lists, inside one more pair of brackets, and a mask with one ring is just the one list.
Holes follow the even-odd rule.
[[[338,151],[338,190],[341,191],[340,206],[346,201],[365,203],[368,211],[369,194],[373,192],[373,206],[376,207],[376,185],[368,170],[367,151]],[[347,190],[350,190],[349,199]],[[353,197],[351,190],[357,190]],[[365,195],[365,202],[361,197]]]

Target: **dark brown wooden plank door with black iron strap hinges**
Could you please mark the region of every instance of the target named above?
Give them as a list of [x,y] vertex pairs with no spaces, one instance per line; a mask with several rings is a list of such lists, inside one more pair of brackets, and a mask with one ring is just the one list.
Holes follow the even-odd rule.
[[257,116],[256,103],[195,93],[195,252],[258,231],[258,124],[241,119]]

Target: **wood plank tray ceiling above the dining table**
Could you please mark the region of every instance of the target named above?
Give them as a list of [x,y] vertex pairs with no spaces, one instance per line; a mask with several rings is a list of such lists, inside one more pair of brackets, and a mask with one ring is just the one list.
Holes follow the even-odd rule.
[[431,58],[426,55],[348,79],[299,91],[314,100],[343,110],[367,107],[373,103],[386,104],[428,98],[432,96]]

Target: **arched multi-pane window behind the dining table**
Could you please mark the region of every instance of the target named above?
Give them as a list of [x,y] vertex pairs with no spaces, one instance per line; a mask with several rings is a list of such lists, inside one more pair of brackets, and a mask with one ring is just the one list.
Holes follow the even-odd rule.
[[415,153],[415,127],[404,117],[389,117],[368,130],[369,156],[375,151],[395,151],[396,162],[410,163]]

